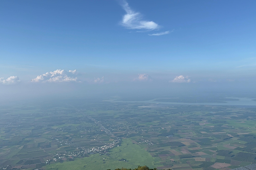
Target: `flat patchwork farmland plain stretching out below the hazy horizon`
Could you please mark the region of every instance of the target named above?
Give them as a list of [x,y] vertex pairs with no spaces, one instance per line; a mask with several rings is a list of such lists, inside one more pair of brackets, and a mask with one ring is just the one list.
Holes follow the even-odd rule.
[[1,106],[0,168],[228,170],[256,163],[255,114],[104,101]]

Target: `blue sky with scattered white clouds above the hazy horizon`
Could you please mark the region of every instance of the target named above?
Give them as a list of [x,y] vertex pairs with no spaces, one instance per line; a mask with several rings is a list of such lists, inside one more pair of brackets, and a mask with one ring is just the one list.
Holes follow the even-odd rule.
[[39,86],[253,87],[255,9],[254,0],[0,1],[1,98]]

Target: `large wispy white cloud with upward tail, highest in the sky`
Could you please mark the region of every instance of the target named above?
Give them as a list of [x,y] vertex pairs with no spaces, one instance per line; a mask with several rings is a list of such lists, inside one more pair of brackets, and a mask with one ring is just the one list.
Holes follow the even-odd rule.
[[133,11],[126,1],[123,1],[122,7],[126,12],[121,21],[122,26],[139,30],[155,30],[159,28],[159,25],[155,22],[143,20],[142,14]]

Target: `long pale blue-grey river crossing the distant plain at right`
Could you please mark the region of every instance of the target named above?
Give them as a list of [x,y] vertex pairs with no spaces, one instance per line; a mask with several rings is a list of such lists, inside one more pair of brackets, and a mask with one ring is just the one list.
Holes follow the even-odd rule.
[[[154,100],[145,100],[145,101],[119,101],[119,100],[105,100],[108,102],[121,102],[121,103],[152,103],[152,104],[170,104],[170,105],[235,105],[235,106],[256,106],[256,101],[253,101],[252,98],[241,98],[241,97],[230,97],[227,99],[238,99],[231,101],[223,101],[225,103],[218,102],[209,102],[209,103],[185,103],[185,102],[158,102]],[[221,101],[221,100],[220,100]]]

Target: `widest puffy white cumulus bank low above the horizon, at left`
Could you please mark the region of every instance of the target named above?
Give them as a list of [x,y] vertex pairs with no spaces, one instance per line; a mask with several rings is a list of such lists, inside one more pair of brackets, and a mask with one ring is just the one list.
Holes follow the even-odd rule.
[[45,74],[39,75],[36,78],[32,79],[32,82],[71,82],[78,81],[76,75],[78,72],[76,70],[55,70],[47,72]]

